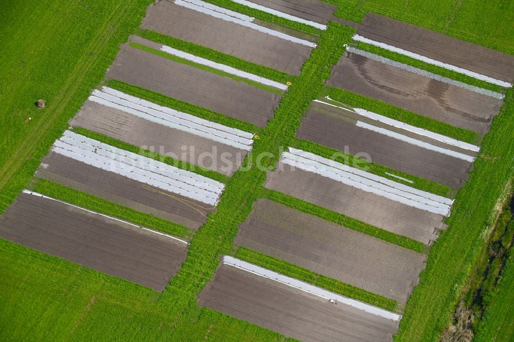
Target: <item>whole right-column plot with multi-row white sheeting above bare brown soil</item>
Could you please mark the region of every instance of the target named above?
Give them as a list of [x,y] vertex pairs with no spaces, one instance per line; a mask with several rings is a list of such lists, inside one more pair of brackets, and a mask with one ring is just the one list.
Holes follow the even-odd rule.
[[395,234],[430,244],[445,229],[452,201],[289,149],[264,184]]

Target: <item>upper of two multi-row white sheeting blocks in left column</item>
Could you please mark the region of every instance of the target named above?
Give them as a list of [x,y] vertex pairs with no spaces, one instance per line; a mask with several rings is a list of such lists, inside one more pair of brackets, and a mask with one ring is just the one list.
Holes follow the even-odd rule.
[[253,134],[236,128],[223,126],[208,120],[159,106],[121,91],[103,87],[95,90],[89,101],[122,110],[142,119],[158,123],[163,126],[182,130],[225,145],[251,150]]

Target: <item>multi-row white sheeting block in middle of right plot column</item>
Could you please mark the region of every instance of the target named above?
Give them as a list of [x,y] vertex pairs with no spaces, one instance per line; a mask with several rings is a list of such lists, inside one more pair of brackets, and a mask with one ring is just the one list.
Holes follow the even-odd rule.
[[282,163],[434,214],[448,216],[452,200],[289,147]]

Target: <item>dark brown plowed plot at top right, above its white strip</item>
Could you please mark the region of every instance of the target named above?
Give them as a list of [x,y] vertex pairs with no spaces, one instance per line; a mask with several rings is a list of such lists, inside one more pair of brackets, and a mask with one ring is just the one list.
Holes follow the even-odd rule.
[[366,14],[357,32],[374,41],[439,62],[510,83],[514,80],[514,56],[463,42],[442,33],[373,13]]

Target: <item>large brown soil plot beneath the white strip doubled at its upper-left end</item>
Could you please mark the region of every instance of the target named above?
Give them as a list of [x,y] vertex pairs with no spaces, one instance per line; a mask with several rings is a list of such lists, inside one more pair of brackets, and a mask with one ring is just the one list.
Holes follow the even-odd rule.
[[300,74],[312,50],[170,1],[151,5],[141,27],[293,75]]

